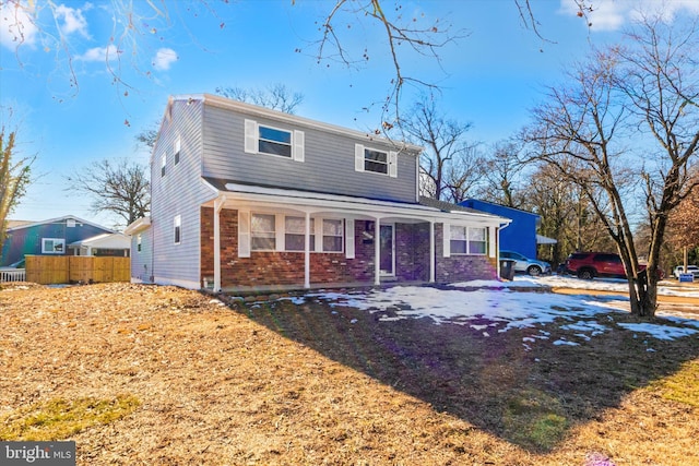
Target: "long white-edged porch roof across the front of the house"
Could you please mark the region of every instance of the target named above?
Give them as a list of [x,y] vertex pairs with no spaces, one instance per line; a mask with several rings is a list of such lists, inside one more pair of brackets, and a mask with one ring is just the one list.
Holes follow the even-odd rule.
[[[276,187],[246,184],[230,180],[203,178],[223,201],[223,207],[234,205],[284,206],[300,212],[335,212],[357,217],[400,217],[418,222],[448,222],[454,224],[508,225],[509,218],[474,211],[457,204],[420,198],[419,202],[395,202],[332,193],[299,191]],[[213,206],[215,200],[204,205]],[[227,203],[230,203],[229,205]]]

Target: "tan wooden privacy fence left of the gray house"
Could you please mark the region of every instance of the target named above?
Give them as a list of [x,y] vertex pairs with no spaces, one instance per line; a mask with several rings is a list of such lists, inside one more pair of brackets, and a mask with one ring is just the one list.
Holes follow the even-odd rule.
[[42,285],[129,282],[131,258],[26,255],[26,280]]

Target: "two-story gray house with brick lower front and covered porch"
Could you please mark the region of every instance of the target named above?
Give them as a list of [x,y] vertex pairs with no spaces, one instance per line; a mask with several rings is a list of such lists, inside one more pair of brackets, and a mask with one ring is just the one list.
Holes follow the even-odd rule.
[[498,276],[509,219],[420,199],[422,147],[208,94],[170,97],[131,274],[215,290]]

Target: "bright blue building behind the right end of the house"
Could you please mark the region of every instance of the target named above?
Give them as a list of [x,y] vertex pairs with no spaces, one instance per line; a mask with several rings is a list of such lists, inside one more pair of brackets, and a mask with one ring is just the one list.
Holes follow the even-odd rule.
[[500,230],[500,250],[514,251],[530,259],[537,259],[536,229],[541,222],[538,215],[476,199],[467,199],[459,205],[511,218],[512,223]]

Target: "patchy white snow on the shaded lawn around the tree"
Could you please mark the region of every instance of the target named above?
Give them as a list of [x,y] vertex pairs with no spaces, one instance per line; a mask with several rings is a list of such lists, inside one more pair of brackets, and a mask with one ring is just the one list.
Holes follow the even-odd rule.
[[[675,288],[672,283],[659,288],[660,295],[699,297],[696,288]],[[533,328],[552,324],[556,320],[568,321],[560,327],[569,330],[570,337],[553,342],[555,345],[579,345],[596,335],[615,328],[614,313],[628,312],[628,299],[619,296],[587,296],[584,289],[626,292],[626,280],[580,280],[574,277],[516,277],[513,282],[474,280],[452,284],[452,289],[419,286],[394,286],[370,291],[315,292],[307,299],[327,301],[331,306],[363,309],[379,315],[379,321],[401,319],[431,319],[437,324],[469,325],[484,336],[510,328]],[[580,288],[580,295],[532,292],[525,288],[565,287]],[[683,289],[685,291],[683,292]],[[599,314],[603,316],[601,324]],[[699,315],[691,313],[660,313],[672,323],[625,324],[624,328],[657,339],[683,337],[699,338]],[[484,321],[486,323],[484,323]],[[647,336],[643,336],[647,337]],[[536,339],[547,339],[548,333],[523,338],[525,348]],[[649,348],[652,350],[652,348]]]

